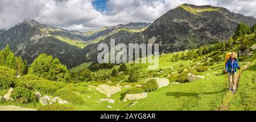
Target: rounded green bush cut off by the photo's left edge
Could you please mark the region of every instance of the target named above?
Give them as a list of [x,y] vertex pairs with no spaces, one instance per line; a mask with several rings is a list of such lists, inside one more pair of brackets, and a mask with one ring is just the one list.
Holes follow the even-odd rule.
[[0,66],[0,88],[8,89],[14,85],[16,71],[5,66]]

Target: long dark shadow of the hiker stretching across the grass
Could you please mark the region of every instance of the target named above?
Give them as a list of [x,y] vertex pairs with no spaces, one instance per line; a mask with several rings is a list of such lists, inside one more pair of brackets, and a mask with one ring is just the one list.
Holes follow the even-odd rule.
[[185,93],[185,92],[168,92],[166,93],[167,96],[174,96],[176,98],[180,98],[180,97],[199,97],[199,95],[201,94],[216,94],[216,93],[221,93],[225,90],[221,90],[221,91],[215,91],[215,92],[209,92],[209,93]]

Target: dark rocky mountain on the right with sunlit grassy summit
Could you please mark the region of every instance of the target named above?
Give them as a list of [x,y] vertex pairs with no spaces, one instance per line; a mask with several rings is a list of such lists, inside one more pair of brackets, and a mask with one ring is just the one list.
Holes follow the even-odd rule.
[[[118,32],[101,42],[109,44],[110,38],[114,38],[116,43],[159,43],[160,52],[170,53],[226,41],[238,23],[252,26],[255,22],[253,17],[226,8],[184,4],[160,16],[141,33]],[[88,60],[96,60],[97,45],[85,47],[83,52]]]

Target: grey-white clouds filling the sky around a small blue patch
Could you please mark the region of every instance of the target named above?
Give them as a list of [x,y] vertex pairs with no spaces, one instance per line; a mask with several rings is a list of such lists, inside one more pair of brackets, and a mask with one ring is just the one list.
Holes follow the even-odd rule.
[[153,22],[183,4],[212,5],[256,17],[254,0],[108,0],[105,11],[97,11],[94,0],[1,0],[0,28],[10,28],[26,18],[77,31],[133,22]]

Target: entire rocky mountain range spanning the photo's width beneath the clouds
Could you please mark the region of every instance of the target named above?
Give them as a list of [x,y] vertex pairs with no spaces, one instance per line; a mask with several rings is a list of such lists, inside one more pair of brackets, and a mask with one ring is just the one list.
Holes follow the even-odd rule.
[[97,45],[108,43],[159,43],[160,51],[170,53],[194,49],[208,43],[228,40],[238,23],[255,24],[256,19],[213,6],[180,5],[154,23],[119,24],[95,31],[79,32],[49,27],[26,19],[8,30],[0,30],[0,49],[9,43],[16,55],[31,63],[47,53],[68,68],[97,59]]

